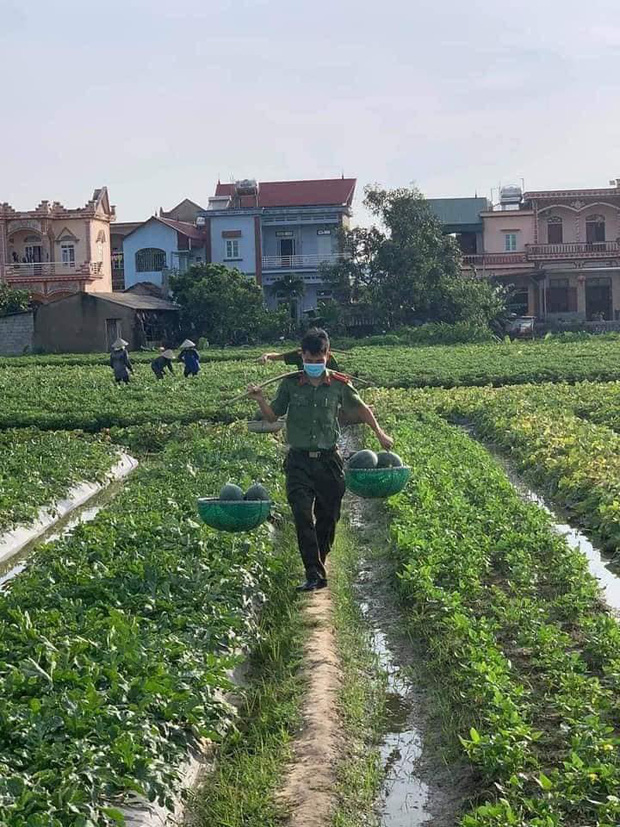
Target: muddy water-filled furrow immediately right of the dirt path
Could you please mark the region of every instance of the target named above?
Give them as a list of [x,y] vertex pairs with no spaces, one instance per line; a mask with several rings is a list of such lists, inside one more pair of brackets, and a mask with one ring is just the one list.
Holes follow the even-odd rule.
[[[381,758],[385,772],[373,824],[453,827],[473,789],[471,768],[448,765],[440,754],[438,721],[420,673],[420,653],[405,631],[395,596],[381,505],[347,497],[347,516],[359,538],[356,597],[378,662],[387,676]],[[383,551],[382,551],[383,549]]]

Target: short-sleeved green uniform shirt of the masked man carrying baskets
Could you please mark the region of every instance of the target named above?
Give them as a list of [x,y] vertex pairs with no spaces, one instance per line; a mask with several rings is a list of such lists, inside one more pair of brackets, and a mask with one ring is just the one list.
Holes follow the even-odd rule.
[[291,448],[326,451],[335,446],[340,435],[340,409],[352,413],[363,404],[355,388],[327,370],[316,387],[304,373],[283,379],[271,409],[276,416],[288,411],[286,433]]

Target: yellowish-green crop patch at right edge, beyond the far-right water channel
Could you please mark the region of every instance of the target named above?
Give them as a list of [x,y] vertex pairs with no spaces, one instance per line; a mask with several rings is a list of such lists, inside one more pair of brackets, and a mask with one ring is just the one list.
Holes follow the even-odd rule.
[[431,410],[472,423],[613,553],[620,548],[620,433],[584,417],[596,416],[597,399],[611,412],[617,395],[615,384],[586,383],[375,391],[372,398],[390,400],[403,412]]

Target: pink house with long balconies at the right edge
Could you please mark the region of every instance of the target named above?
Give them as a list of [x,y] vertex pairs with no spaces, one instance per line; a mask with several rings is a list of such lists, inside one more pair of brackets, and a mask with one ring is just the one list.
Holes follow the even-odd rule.
[[620,320],[620,179],[602,189],[505,188],[488,206],[475,252],[461,244],[464,268],[512,285],[516,312]]

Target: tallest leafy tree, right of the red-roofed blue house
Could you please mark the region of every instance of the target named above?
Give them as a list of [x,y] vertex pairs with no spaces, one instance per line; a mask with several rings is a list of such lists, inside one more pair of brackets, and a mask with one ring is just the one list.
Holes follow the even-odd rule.
[[326,278],[335,298],[372,307],[389,330],[427,321],[488,323],[504,308],[500,288],[461,271],[461,253],[415,187],[367,187],[379,226],[345,233],[348,257]]

